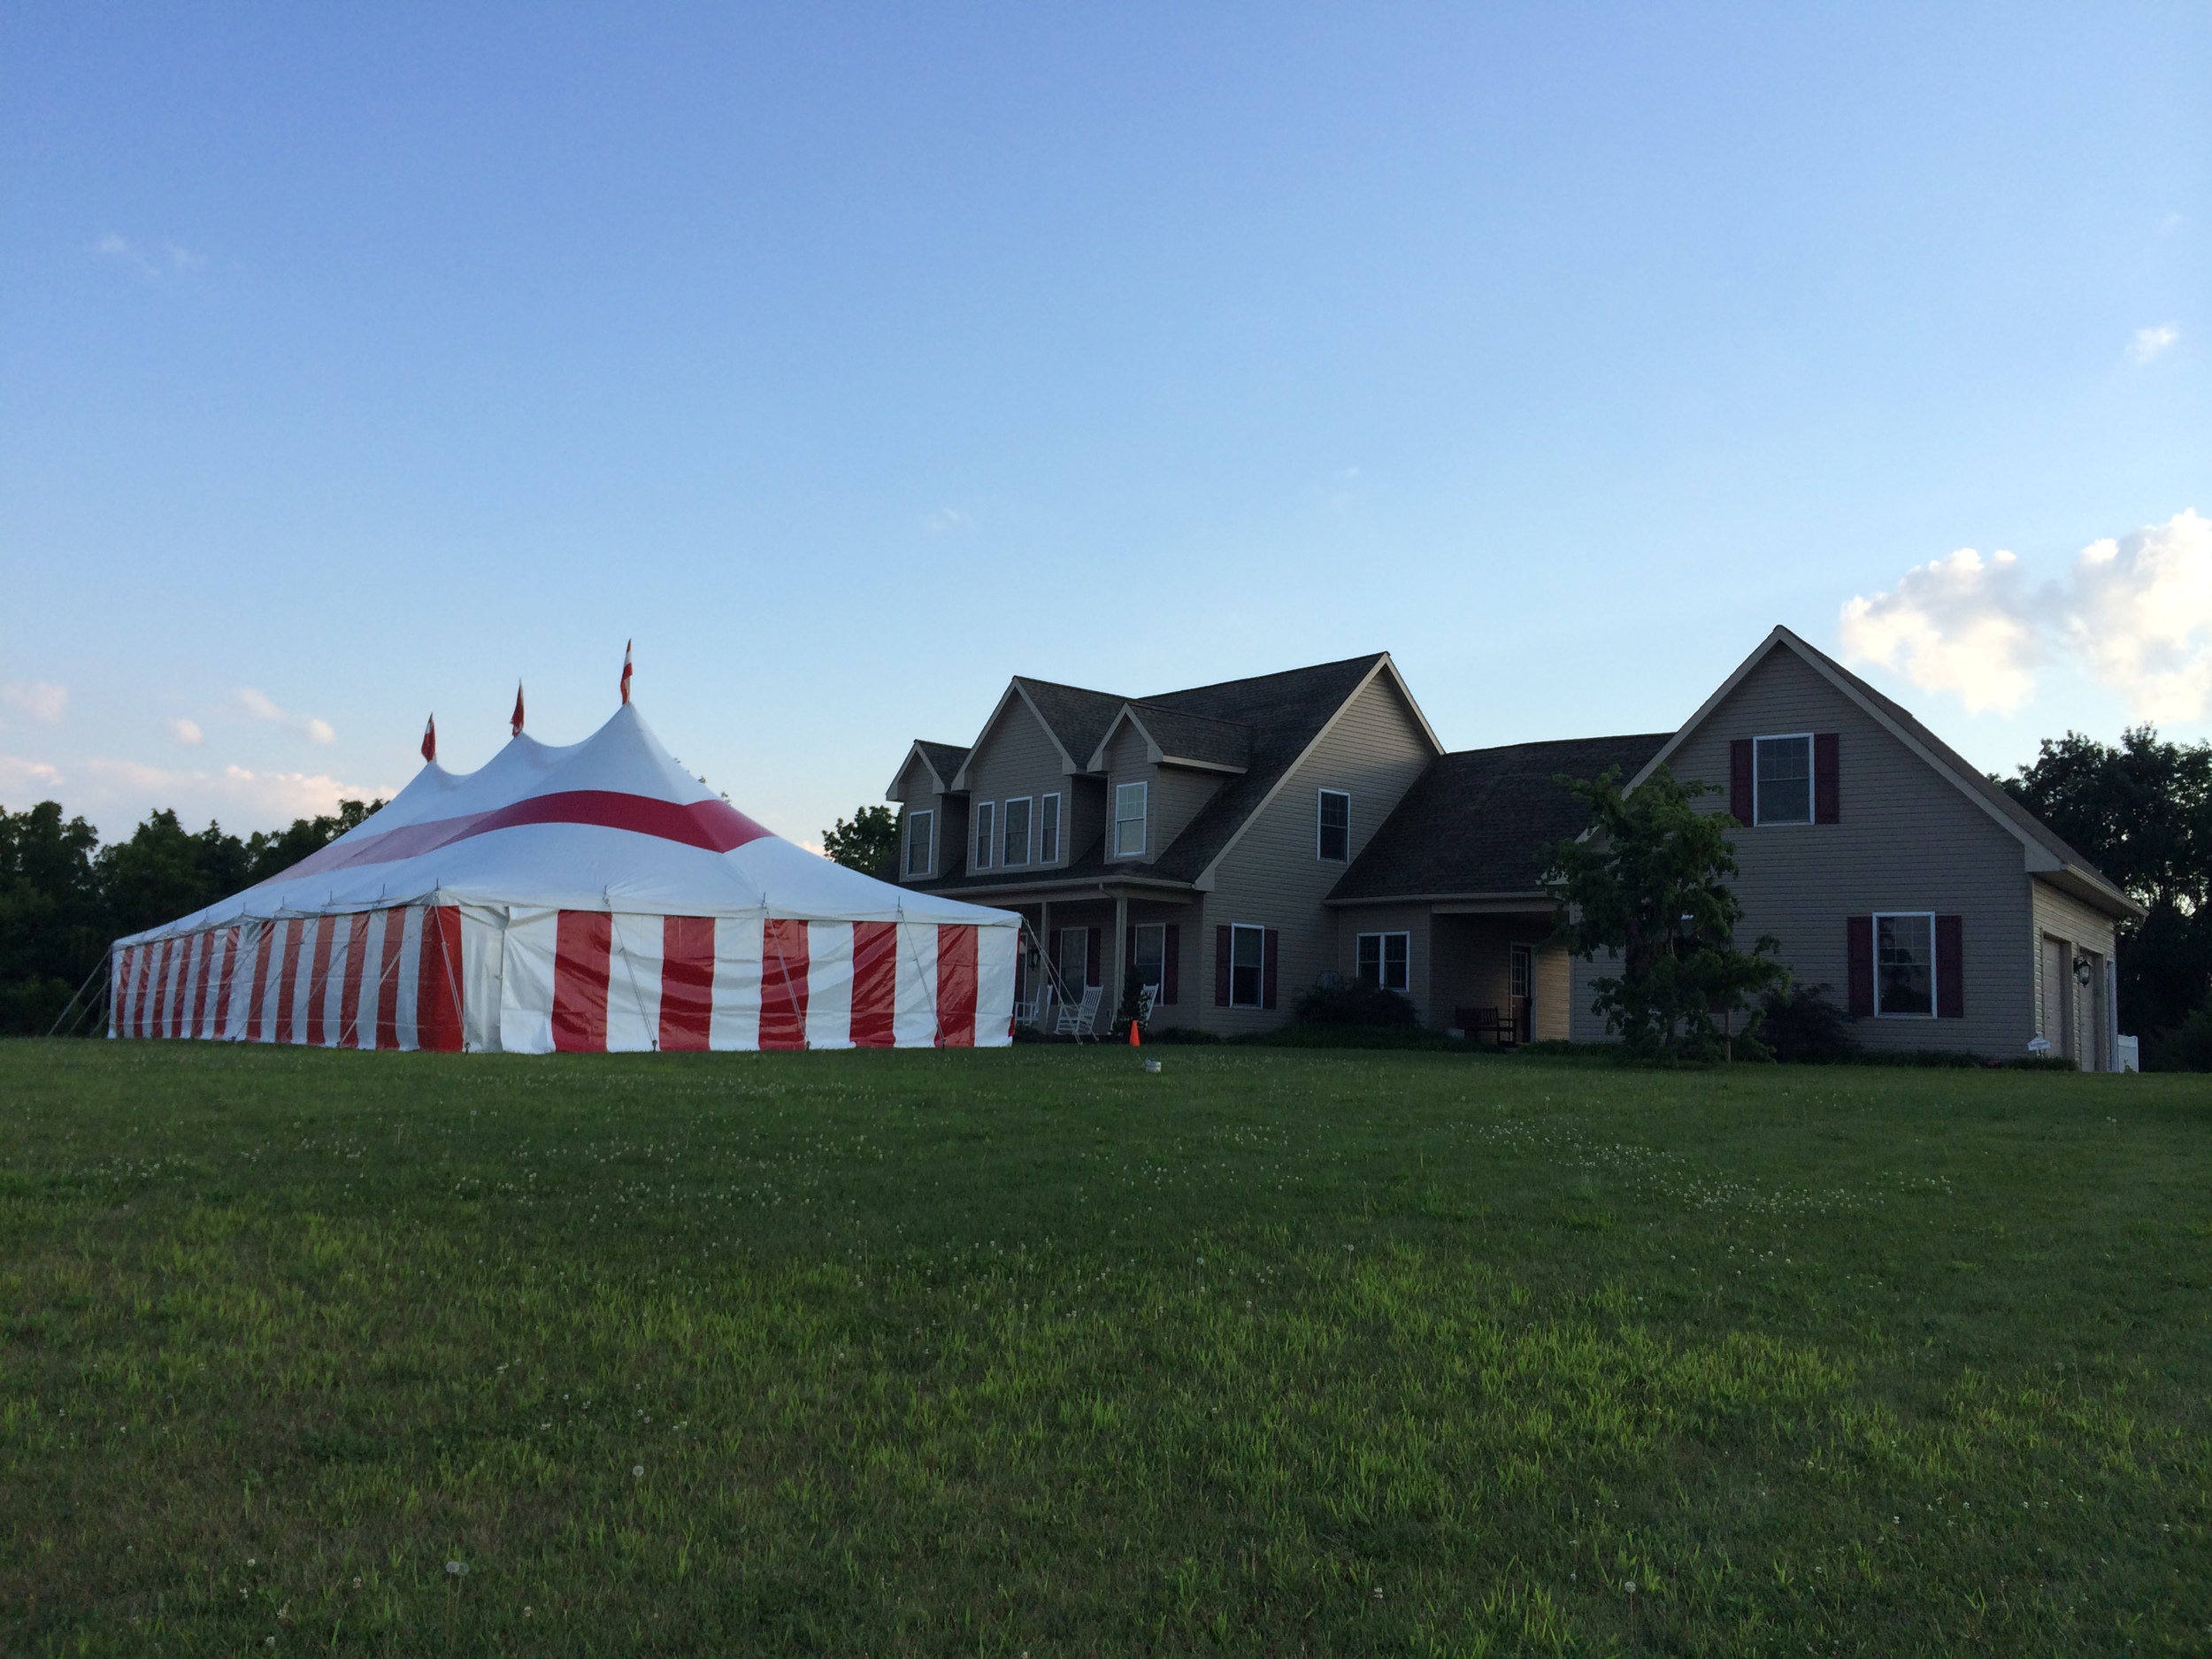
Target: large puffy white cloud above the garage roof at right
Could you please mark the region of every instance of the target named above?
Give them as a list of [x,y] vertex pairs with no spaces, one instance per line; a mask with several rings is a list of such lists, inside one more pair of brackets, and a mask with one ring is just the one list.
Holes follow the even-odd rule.
[[2073,571],[2028,588],[2011,553],[1973,549],[1843,606],[1843,650],[1900,668],[1969,710],[2013,712],[2059,655],[2128,701],[2132,719],[2194,721],[2212,708],[2212,520],[2174,513],[2081,549]]

